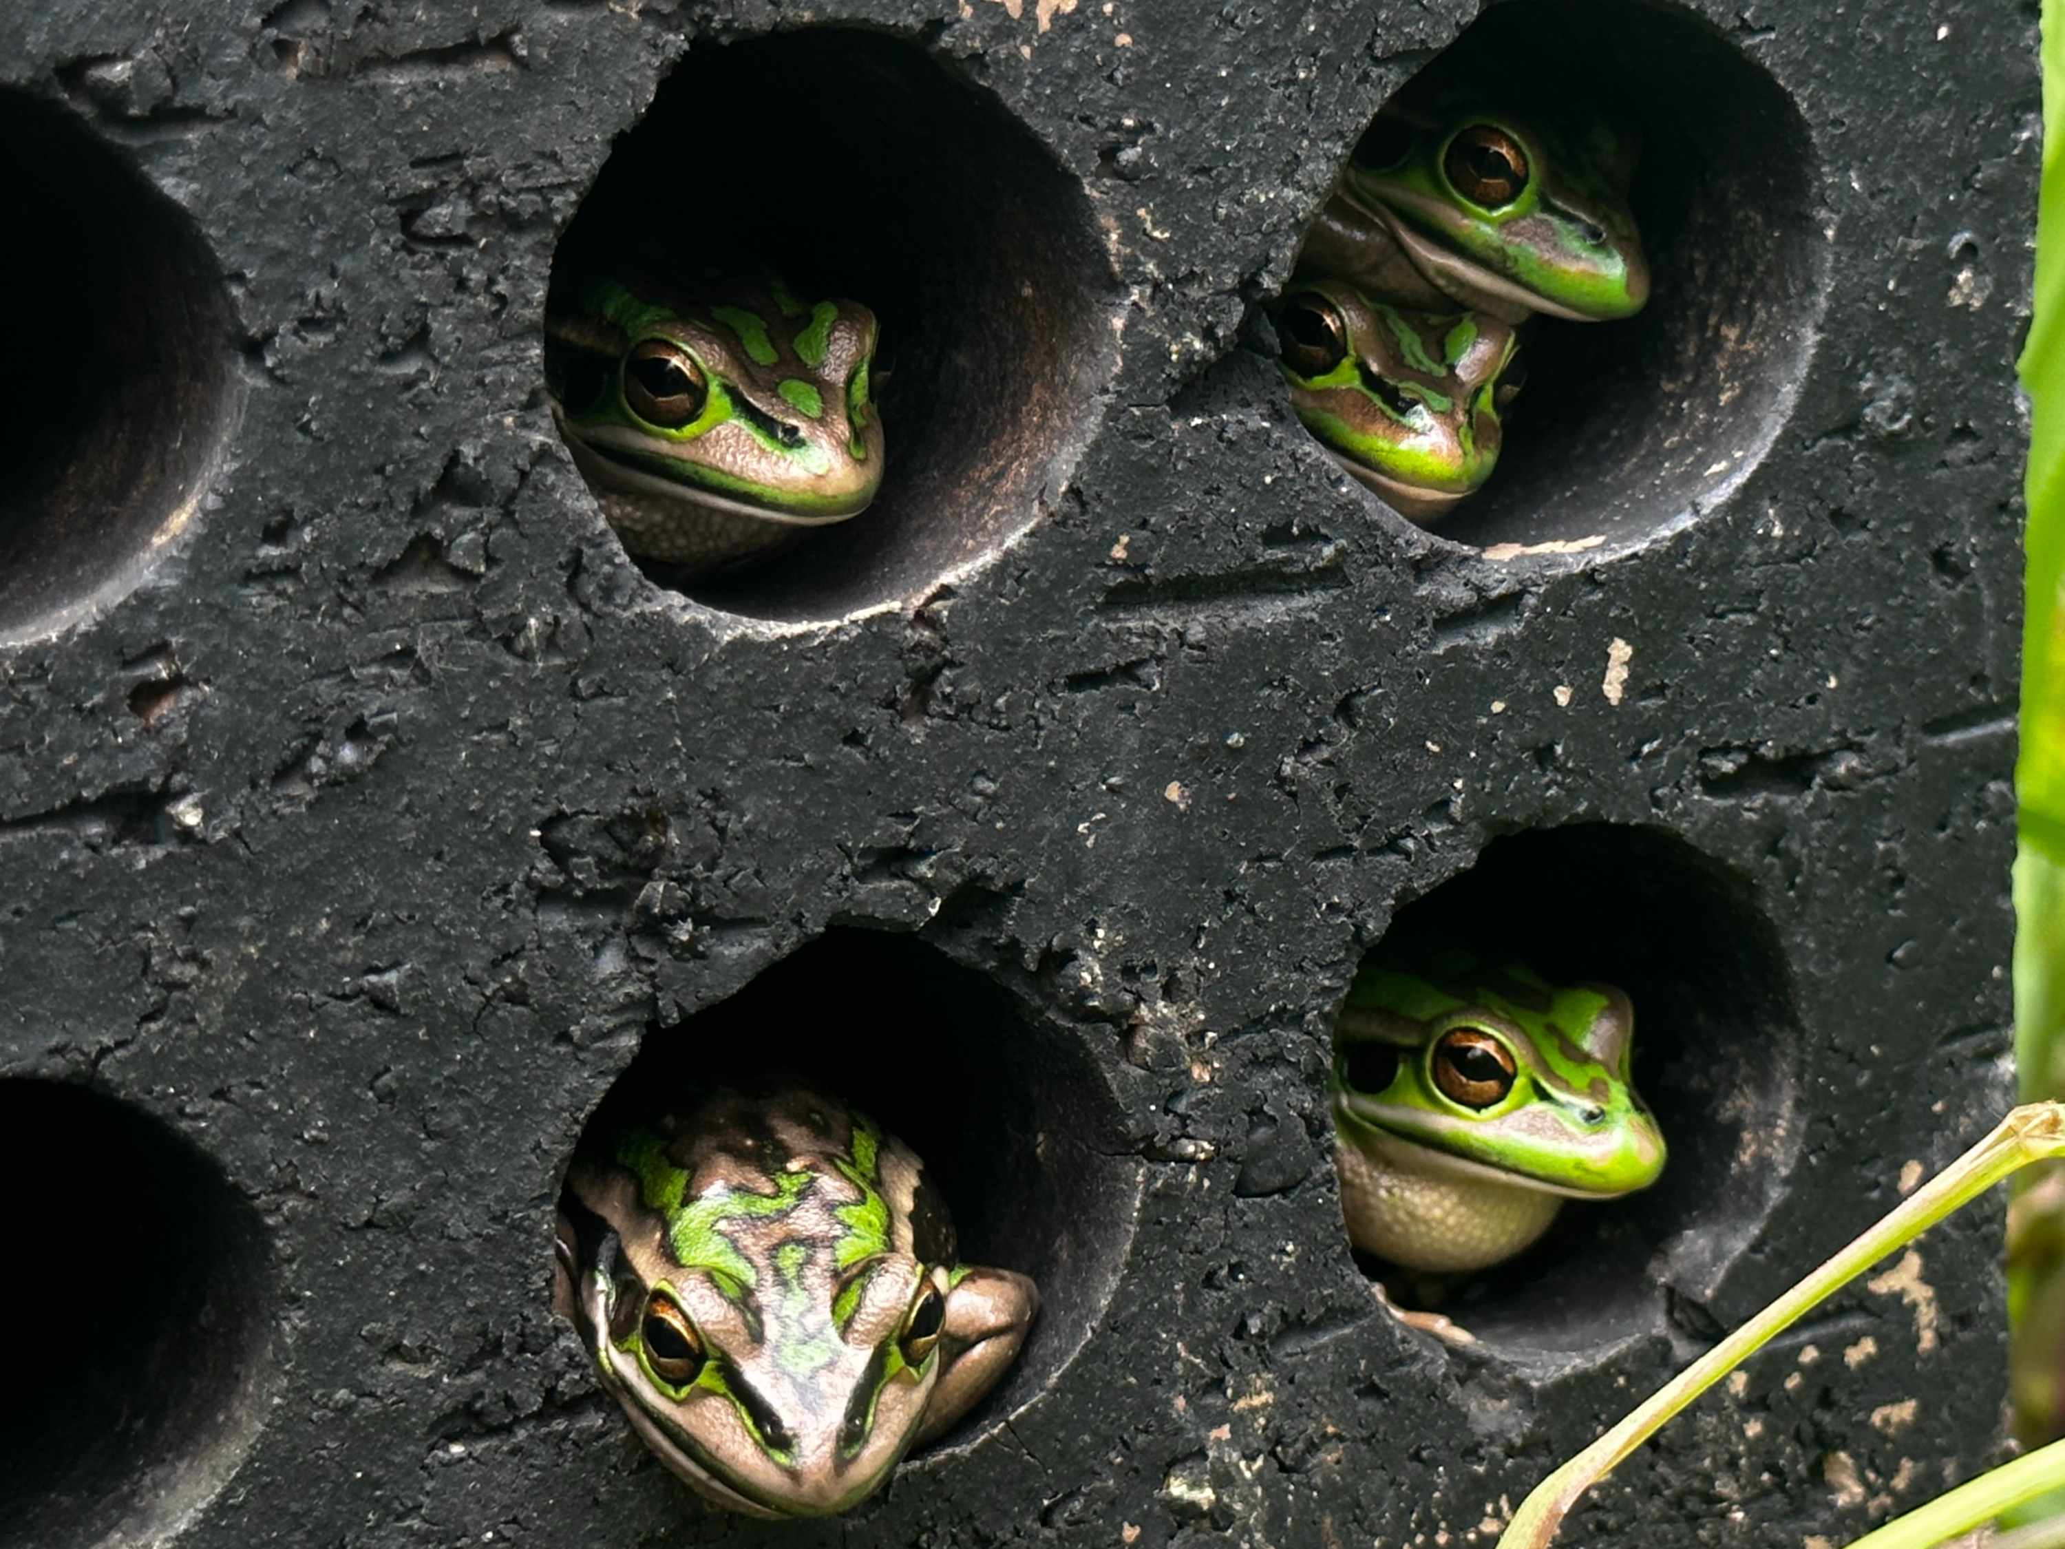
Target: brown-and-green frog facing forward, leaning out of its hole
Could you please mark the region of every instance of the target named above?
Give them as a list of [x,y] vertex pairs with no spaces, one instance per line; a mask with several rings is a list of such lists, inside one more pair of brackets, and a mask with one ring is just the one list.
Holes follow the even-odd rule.
[[750,1516],[845,1512],[1018,1355],[923,1165],[803,1086],[714,1090],[568,1169],[558,1305],[644,1444]]

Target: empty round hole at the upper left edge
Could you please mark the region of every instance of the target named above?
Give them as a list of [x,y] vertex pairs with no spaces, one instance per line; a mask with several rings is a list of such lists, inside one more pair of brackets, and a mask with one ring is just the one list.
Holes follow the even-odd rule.
[[0,644],[128,595],[184,533],[235,411],[219,266],[70,112],[0,91],[12,370],[0,384]]

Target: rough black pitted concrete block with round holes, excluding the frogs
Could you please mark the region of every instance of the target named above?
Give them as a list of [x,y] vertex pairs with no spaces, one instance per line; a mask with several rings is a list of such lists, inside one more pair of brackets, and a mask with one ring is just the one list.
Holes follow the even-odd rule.
[[[2009,1099],[2032,0],[12,0],[0,1545],[1487,1545]],[[1644,128],[1439,535],[1262,306],[1456,45]],[[555,260],[871,302],[861,523],[675,589]],[[1340,1225],[1400,913],[1623,983],[1664,1181],[1456,1307]],[[611,1084],[787,1064],[1032,1274],[843,1522],[704,1508],[549,1309]],[[1997,1456],[1972,1212],[1574,1543],[1842,1543]]]

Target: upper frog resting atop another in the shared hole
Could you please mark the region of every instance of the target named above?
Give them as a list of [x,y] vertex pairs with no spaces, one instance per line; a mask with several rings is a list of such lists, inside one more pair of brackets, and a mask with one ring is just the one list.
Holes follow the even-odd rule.
[[1408,95],[1357,143],[1297,273],[1512,324],[1633,316],[1650,297],[1627,207],[1635,155],[1598,116]]

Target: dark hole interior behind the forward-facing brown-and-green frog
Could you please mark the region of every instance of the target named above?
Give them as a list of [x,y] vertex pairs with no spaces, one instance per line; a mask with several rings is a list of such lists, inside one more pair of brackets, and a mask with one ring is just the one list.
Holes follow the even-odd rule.
[[1039,1287],[1016,1363],[935,1446],[1030,1402],[1103,1318],[1140,1198],[1140,1161],[1123,1155],[1090,1053],[938,948],[834,929],[681,1026],[653,1029],[580,1146],[766,1076],[795,1076],[900,1138],[946,1196],[960,1262]]

